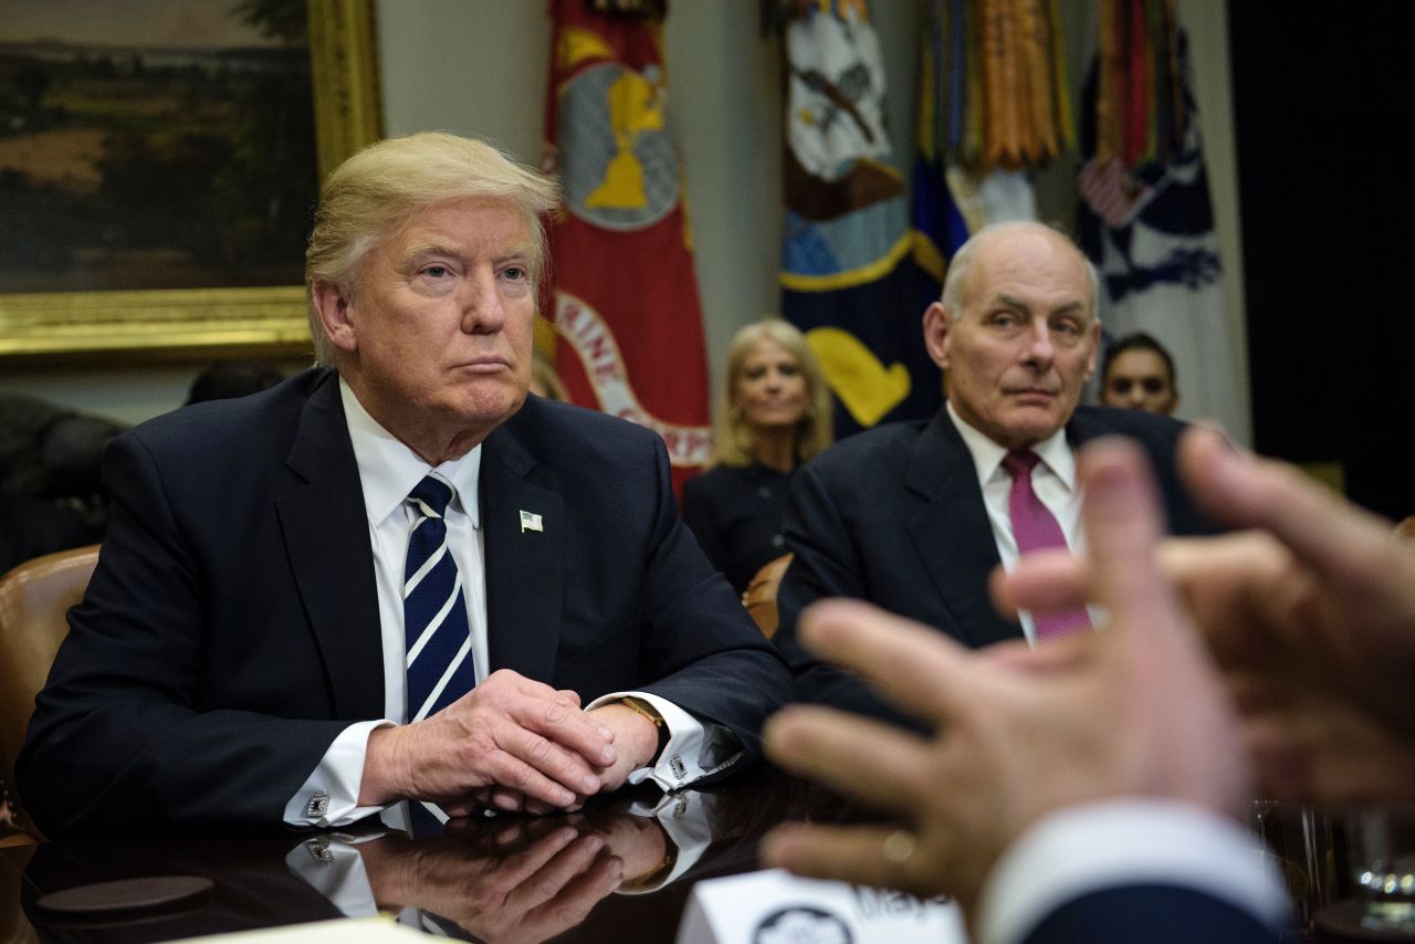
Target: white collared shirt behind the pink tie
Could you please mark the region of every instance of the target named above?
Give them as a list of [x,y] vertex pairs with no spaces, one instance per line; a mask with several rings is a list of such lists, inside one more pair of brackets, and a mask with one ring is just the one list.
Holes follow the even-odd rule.
[[[1006,449],[988,439],[986,434],[969,426],[954,405],[945,405],[948,418],[954,420],[958,434],[962,436],[974,460],[974,470],[978,474],[978,485],[982,488],[982,501],[988,510],[988,522],[992,525],[992,539],[998,545],[998,558],[1006,570],[1017,566],[1017,539],[1012,534],[1012,511],[1007,508],[1007,497],[1012,493],[1012,476],[1002,467],[1002,460],[1007,456]],[[1081,490],[1075,481],[1075,453],[1065,440],[1065,429],[1047,436],[1032,447],[1041,461],[1032,470],[1032,490],[1041,504],[1057,519],[1061,535],[1065,538],[1071,553],[1085,552],[1085,532],[1081,529]],[[1104,616],[1098,607],[1088,607],[1091,611],[1091,626],[1099,626]],[[1022,633],[1027,641],[1036,645],[1037,626],[1032,613],[1022,610],[1017,614]]]

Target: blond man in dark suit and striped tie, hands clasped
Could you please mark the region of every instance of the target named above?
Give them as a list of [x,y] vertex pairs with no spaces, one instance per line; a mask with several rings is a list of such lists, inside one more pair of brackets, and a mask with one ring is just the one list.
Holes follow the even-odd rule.
[[790,677],[662,443],[526,395],[556,200],[441,133],[330,175],[320,367],[109,451],[109,539],[20,761],[47,832],[416,829],[757,756]]

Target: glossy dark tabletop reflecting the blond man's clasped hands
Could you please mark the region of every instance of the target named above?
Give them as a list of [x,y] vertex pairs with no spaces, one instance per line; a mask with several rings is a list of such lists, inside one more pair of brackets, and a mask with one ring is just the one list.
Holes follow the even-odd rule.
[[[715,790],[621,791],[576,814],[454,819],[417,839],[375,822],[250,839],[48,842],[18,866],[33,937],[21,928],[13,940],[160,941],[385,913],[463,940],[672,941],[692,883],[757,868],[761,835],[804,810],[801,784],[760,770]],[[109,920],[37,906],[48,892],[158,875],[209,877],[215,890],[185,910]]]

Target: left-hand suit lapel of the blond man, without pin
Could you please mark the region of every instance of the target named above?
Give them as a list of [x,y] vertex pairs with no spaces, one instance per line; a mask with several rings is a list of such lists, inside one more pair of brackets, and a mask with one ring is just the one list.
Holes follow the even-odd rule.
[[383,644],[374,549],[338,376],[316,388],[286,464],[299,477],[276,507],[300,599],[324,657],[337,718],[383,716]]

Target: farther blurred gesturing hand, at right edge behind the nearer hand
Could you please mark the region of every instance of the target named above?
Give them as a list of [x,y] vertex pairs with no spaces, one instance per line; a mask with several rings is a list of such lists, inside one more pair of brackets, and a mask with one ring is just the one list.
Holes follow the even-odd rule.
[[[1194,498],[1248,532],[1176,539],[1160,559],[1203,630],[1265,795],[1415,798],[1415,549],[1390,525],[1281,463],[1193,429],[1180,471]],[[1009,607],[1095,596],[1085,560],[1023,560]]]

